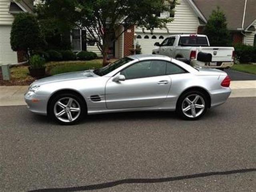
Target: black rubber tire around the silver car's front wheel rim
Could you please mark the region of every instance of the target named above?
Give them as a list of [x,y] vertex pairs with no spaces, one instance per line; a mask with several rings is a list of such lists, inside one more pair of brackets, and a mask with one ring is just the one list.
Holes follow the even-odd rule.
[[[80,106],[80,114],[77,116],[77,118],[74,121],[71,122],[63,122],[61,120],[59,120],[55,114],[54,114],[54,106],[56,104],[56,102],[60,99],[64,99],[64,98],[72,98],[74,99]],[[54,96],[54,98],[51,98],[50,103],[49,103],[49,108],[48,108],[48,116],[50,116],[50,118],[54,121],[56,121],[57,123],[61,124],[61,125],[73,125],[73,124],[77,124],[82,118],[84,118],[84,116],[86,115],[86,104],[84,103],[84,100],[76,95],[76,94],[72,94],[72,93],[62,93],[59,95]]]

